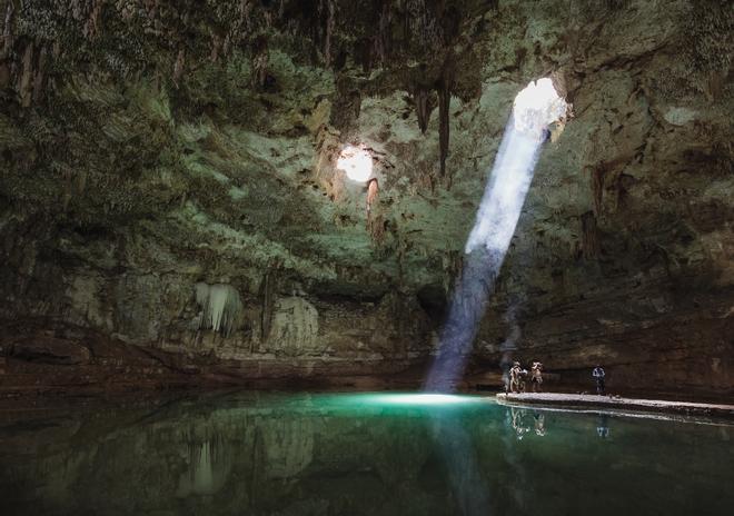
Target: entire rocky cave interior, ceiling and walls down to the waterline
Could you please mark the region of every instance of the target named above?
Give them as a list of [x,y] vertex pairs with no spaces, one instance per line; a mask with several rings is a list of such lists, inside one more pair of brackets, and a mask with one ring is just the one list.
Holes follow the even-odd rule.
[[[510,345],[567,381],[732,394],[726,2],[206,6],[0,2],[3,388],[107,346],[112,387],[139,354],[184,383],[420,368],[513,99],[552,75],[574,115],[472,371]],[[374,156],[369,218],[345,145]],[[235,292],[208,298],[225,331],[197,285]]]

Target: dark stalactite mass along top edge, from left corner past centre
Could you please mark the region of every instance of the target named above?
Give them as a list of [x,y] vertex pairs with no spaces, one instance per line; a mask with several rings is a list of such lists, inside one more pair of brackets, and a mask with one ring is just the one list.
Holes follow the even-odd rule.
[[[463,6],[458,0],[8,0],[0,88],[12,90],[22,107],[38,105],[54,90],[54,78],[80,63],[111,68],[107,71],[121,79],[155,70],[156,83],[170,80],[178,88],[189,71],[238,49],[250,56],[252,88],[264,89],[270,42],[290,36],[337,73],[347,64],[366,72],[381,68],[393,86],[413,93],[423,132],[438,107],[443,177]],[[420,64],[406,72],[410,61]],[[354,90],[347,100],[357,107],[349,113],[358,116]]]

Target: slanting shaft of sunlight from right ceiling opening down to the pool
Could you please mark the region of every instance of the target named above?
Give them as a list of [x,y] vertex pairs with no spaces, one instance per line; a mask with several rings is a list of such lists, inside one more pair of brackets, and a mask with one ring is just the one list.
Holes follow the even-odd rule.
[[448,318],[426,389],[450,391],[464,374],[477,326],[507,254],[549,123],[566,112],[550,79],[530,82],[515,99],[476,222],[464,249]]

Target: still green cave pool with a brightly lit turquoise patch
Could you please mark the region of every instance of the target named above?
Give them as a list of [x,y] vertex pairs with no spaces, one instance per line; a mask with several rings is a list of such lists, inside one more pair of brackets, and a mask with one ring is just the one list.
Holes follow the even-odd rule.
[[467,396],[239,393],[0,413],[0,512],[733,514],[734,426]]

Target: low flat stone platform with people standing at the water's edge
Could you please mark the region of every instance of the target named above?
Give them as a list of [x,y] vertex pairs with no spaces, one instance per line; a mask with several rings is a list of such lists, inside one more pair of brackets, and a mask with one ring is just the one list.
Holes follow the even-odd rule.
[[498,394],[497,403],[522,405],[549,405],[568,408],[623,409],[657,413],[675,413],[692,416],[723,416],[734,418],[734,405],[661,399],[636,399],[619,396],[596,396],[562,393]]

